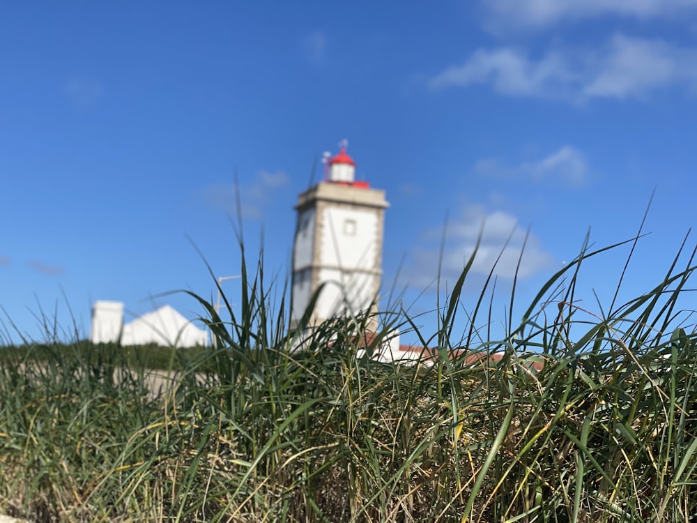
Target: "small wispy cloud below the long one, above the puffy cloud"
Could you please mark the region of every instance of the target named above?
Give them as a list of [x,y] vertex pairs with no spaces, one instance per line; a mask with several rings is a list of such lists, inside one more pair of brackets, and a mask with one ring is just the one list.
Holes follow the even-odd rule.
[[520,179],[535,183],[561,183],[581,187],[588,177],[588,165],[581,151],[572,146],[562,146],[555,153],[517,166],[505,165],[498,159],[479,160],[474,172],[491,178]]

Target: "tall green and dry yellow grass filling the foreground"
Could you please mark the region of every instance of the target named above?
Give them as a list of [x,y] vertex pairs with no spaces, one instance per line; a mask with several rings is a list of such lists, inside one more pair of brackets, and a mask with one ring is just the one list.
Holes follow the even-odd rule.
[[[477,328],[492,320],[493,278],[475,310],[461,308],[470,265],[435,333],[393,308],[364,347],[366,317],[289,328],[283,286],[243,260],[240,314],[225,300],[231,321],[192,294],[215,349],[3,349],[0,512],[38,522],[691,521],[697,337],[677,304],[694,253],[678,268],[681,249],[648,294],[590,314],[575,305],[576,282],[605,251],[584,249],[518,323],[513,293],[500,340]],[[429,365],[369,358],[395,327],[415,330]],[[500,358],[472,363],[462,347]],[[148,391],[151,366],[171,372],[169,390]]]

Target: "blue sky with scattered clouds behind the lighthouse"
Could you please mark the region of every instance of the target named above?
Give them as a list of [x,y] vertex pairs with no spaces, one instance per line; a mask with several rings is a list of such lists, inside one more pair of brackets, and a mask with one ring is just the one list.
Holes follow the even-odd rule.
[[[215,275],[239,273],[235,173],[248,255],[263,231],[266,271],[284,278],[293,204],[343,138],[358,178],[387,191],[385,287],[415,315],[436,304],[446,216],[444,281],[485,224],[465,308],[513,232],[497,321],[528,227],[521,308],[589,229],[597,246],[634,236],[654,189],[622,296],[659,282],[693,225],[693,0],[0,9],[0,305],[33,338],[40,309],[68,331],[72,309],[87,335],[97,299],[199,314],[152,296],[214,296],[187,238]],[[611,298],[627,252],[585,266],[584,308],[593,289]],[[238,282],[224,287],[235,302]]]

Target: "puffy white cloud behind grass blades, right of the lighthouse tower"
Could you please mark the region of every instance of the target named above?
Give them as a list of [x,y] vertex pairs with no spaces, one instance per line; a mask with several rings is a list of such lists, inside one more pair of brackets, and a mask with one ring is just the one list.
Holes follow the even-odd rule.
[[[442,230],[433,229],[424,234],[422,242],[437,243],[442,234]],[[539,238],[529,234],[526,239],[526,234],[510,213],[487,212],[480,205],[466,206],[457,220],[450,222],[445,230],[441,279],[452,285],[474,254],[480,235],[480,245],[470,268],[472,275],[487,276],[493,268],[493,274],[498,278],[512,280],[517,270],[519,280],[524,280],[552,267],[555,261],[544,250]],[[408,270],[411,285],[424,287],[434,282],[438,276],[440,256],[440,247],[415,248],[414,263]]]

